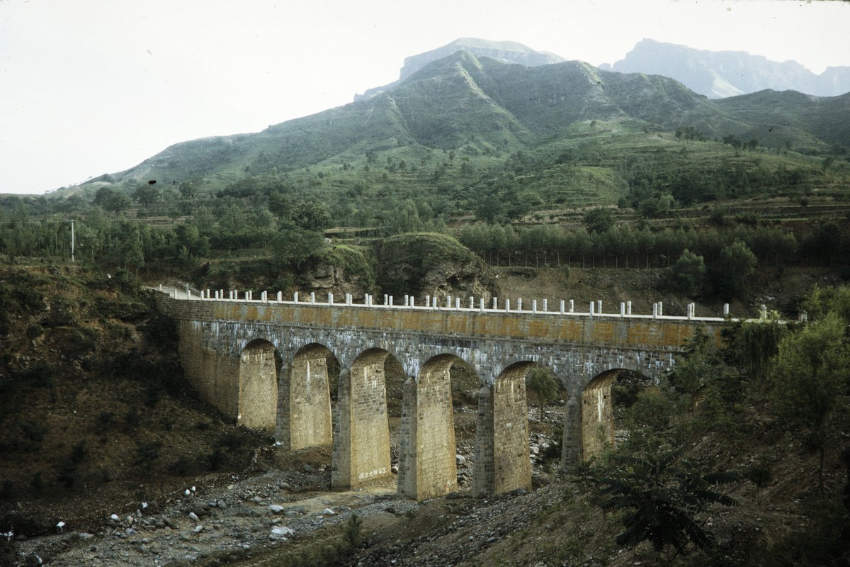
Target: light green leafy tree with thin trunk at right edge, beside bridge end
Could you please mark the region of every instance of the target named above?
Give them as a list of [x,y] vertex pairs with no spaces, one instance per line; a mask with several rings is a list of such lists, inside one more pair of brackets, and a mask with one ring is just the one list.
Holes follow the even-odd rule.
[[845,327],[841,317],[829,313],[782,339],[776,357],[771,407],[781,419],[808,428],[819,454],[821,488],[828,424],[850,377]]

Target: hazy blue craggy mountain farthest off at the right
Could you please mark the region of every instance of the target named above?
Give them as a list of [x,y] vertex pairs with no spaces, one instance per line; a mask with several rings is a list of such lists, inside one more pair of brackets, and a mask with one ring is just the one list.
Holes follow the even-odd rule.
[[625,59],[600,65],[606,71],[663,75],[711,99],[771,89],[816,96],[850,92],[850,67],[828,67],[815,75],[796,61],[771,61],[744,51],[703,51],[652,39],[638,42]]

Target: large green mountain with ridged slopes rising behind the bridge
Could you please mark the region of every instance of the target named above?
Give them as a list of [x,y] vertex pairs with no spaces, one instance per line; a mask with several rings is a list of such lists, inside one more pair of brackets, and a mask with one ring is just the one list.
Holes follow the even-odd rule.
[[517,152],[560,150],[590,140],[653,145],[657,137],[647,133],[677,128],[699,132],[701,139],[756,138],[763,147],[817,152],[850,145],[848,101],[850,95],[772,91],[712,101],[667,77],[600,71],[581,61],[506,64],[461,51],[371,99],[260,133],[173,145],[88,185],[132,190],[150,179],[191,180],[202,190],[218,190],[272,173],[332,194],[371,184],[377,167],[386,170],[383,181],[411,185],[425,170],[429,179],[439,177],[440,164],[460,183],[461,173],[471,178]]

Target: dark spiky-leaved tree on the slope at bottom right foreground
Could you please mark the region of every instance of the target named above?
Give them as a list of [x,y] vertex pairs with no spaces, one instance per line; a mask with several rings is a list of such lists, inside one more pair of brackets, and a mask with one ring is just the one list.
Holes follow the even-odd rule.
[[692,546],[706,549],[715,544],[697,514],[711,504],[735,506],[731,496],[715,490],[735,478],[734,473],[701,474],[682,458],[682,450],[649,450],[644,456],[621,457],[615,471],[601,480],[602,492],[609,496],[601,506],[625,512],[625,530],[616,537],[617,545],[635,547],[649,541],[660,560],[667,550],[669,564]]

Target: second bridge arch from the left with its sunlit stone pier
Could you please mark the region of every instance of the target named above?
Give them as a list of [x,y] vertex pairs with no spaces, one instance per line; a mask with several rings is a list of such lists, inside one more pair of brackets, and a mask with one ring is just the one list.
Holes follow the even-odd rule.
[[297,349],[281,372],[277,440],[287,451],[331,445],[331,381],[339,363],[331,349],[308,343]]

